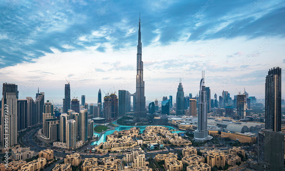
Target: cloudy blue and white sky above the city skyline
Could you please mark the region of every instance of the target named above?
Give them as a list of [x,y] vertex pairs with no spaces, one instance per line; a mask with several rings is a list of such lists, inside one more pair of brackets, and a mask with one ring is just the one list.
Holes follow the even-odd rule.
[[179,78],[194,96],[203,70],[211,98],[245,89],[263,99],[269,69],[285,69],[284,16],[282,0],[1,0],[0,81],[20,99],[39,87],[62,102],[66,80],[87,103],[99,88],[134,93],[141,19],[147,101],[175,101]]

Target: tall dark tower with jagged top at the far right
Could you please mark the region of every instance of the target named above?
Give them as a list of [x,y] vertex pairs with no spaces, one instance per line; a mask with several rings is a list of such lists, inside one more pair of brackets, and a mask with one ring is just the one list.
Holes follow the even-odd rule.
[[271,68],[265,79],[265,129],[281,131],[281,68]]

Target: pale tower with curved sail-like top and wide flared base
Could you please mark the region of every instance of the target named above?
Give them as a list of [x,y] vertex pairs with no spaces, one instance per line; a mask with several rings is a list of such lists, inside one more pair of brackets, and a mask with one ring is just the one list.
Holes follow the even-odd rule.
[[199,108],[198,108],[198,128],[194,131],[194,140],[196,142],[203,142],[210,140],[213,137],[209,136],[207,123],[207,95],[205,90],[204,76],[200,81],[199,91]]

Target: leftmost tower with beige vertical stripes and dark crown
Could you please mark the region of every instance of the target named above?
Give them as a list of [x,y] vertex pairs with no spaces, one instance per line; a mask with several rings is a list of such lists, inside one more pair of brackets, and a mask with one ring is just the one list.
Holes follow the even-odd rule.
[[2,95],[1,142],[3,148],[9,148],[10,146],[17,144],[18,86],[16,84],[3,83]]

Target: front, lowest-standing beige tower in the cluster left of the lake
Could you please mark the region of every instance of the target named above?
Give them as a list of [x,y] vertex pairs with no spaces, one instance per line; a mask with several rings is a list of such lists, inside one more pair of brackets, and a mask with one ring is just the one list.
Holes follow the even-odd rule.
[[66,146],[69,150],[76,148],[76,123],[69,119],[66,123]]

